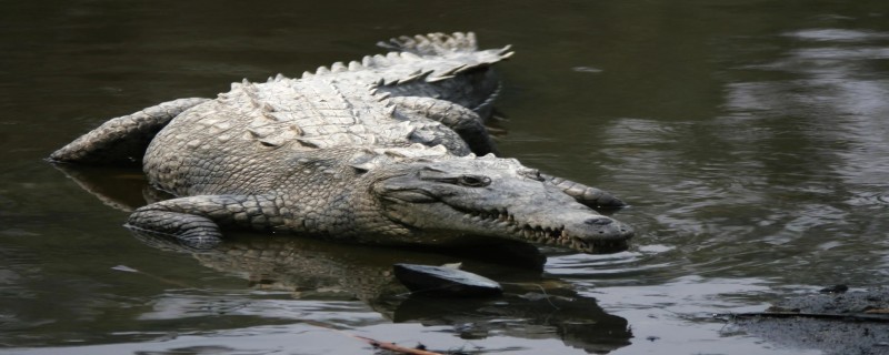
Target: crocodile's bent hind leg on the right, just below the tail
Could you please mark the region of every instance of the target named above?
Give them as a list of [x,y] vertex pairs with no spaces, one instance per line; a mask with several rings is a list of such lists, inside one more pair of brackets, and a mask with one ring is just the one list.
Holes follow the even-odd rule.
[[423,118],[447,125],[460,135],[472,153],[497,154],[493,140],[485,129],[481,118],[472,110],[450,101],[423,97],[396,97],[389,100],[396,104],[398,112],[408,119]]

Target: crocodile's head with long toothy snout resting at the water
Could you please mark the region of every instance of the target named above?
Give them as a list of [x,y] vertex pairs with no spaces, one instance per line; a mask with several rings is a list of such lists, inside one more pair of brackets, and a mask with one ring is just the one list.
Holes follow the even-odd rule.
[[609,253],[626,250],[633,235],[630,226],[576,202],[513,159],[421,160],[382,170],[370,194],[399,226],[388,229],[421,243],[488,235]]

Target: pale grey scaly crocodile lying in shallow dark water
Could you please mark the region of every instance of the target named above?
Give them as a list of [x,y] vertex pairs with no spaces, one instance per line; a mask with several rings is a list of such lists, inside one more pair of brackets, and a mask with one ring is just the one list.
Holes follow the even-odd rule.
[[53,152],[80,164],[142,164],[174,197],[126,226],[196,248],[223,227],[387,245],[506,237],[587,253],[622,251],[622,201],[498,158],[485,126],[509,47],[471,32],[400,37],[387,54],[216,99],[178,99],[112,119]]

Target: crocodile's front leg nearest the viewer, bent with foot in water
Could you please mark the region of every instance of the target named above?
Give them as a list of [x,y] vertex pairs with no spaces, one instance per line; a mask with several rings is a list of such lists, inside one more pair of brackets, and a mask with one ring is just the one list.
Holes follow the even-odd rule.
[[274,197],[264,195],[200,195],[172,199],[136,210],[126,226],[137,232],[173,237],[196,248],[218,244],[220,226],[270,230],[283,225]]

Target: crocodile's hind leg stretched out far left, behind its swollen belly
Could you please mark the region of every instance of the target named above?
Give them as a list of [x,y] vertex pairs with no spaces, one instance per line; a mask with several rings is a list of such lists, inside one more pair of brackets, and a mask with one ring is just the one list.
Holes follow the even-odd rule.
[[154,135],[173,118],[209,99],[179,99],[111,119],[50,154],[49,160],[93,165],[141,164]]

